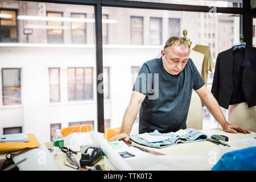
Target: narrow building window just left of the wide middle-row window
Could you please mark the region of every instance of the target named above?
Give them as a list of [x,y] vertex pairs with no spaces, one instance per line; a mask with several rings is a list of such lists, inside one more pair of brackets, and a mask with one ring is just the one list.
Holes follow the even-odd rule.
[[50,102],[60,102],[60,68],[49,68]]

